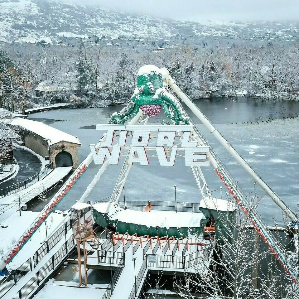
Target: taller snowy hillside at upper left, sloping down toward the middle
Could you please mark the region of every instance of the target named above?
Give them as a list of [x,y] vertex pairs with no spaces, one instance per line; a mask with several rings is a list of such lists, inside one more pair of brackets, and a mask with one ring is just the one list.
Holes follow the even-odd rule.
[[155,17],[100,7],[45,0],[0,0],[0,40],[51,42],[62,36],[172,36],[169,23]]

